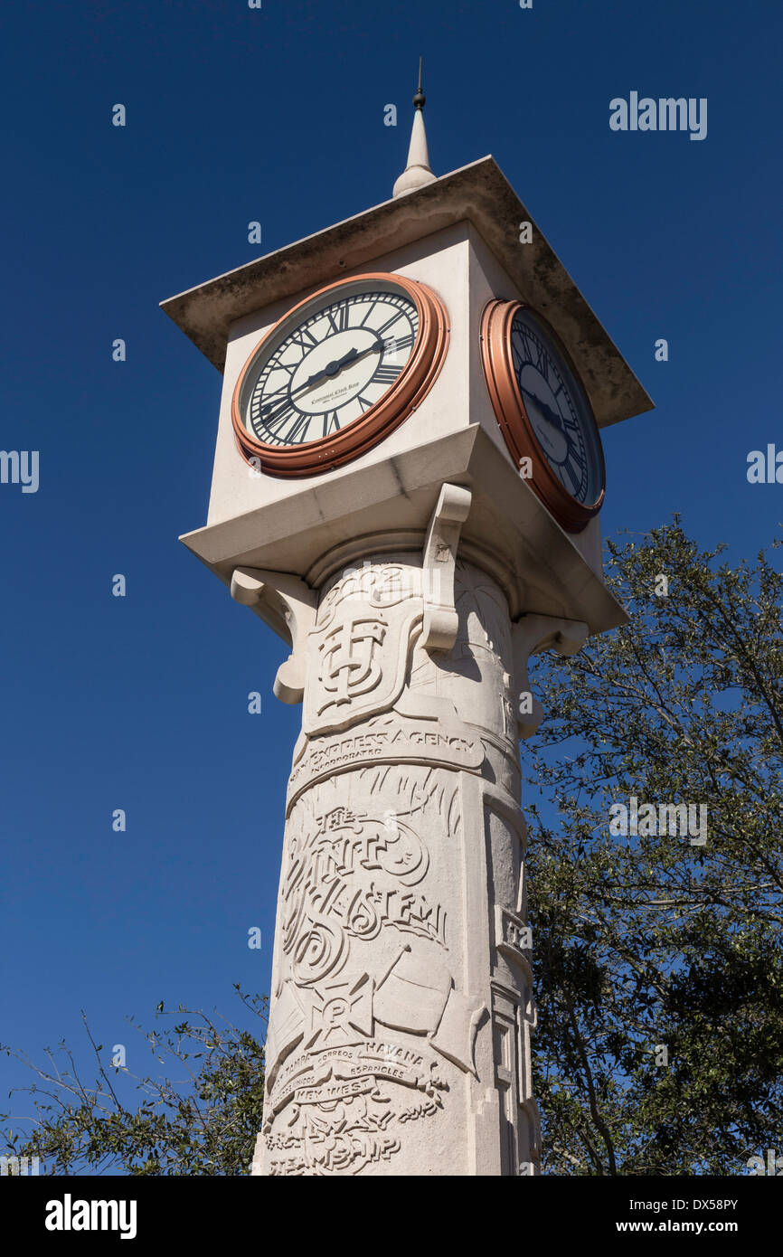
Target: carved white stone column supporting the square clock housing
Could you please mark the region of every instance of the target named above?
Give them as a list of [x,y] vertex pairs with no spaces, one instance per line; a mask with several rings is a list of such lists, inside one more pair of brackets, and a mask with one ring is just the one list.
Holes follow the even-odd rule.
[[449,489],[424,558],[371,551],[298,605],[254,1174],[537,1172],[518,696],[530,650],[576,646],[455,562]]

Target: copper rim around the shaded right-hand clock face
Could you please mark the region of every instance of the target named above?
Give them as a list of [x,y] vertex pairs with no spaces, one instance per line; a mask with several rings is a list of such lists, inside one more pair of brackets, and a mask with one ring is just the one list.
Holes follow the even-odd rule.
[[[512,358],[512,324],[518,310],[525,309],[543,324],[547,336],[552,339],[554,348],[561,354],[564,366],[572,377],[576,390],[581,393],[584,403],[584,412],[594,425],[597,449],[601,466],[602,489],[597,499],[586,504],[573,498],[549,466],[544,456],[535,431],[524,407],[524,401],[517,372]],[[493,410],[498,419],[500,431],[505,440],[509,454],[514,459],[514,465],[519,468],[523,458],[529,458],[533,465],[533,476],[528,484],[538,494],[544,507],[554,515],[562,527],[571,533],[581,533],[591,519],[598,514],[603,505],[606,494],[606,464],[603,460],[603,446],[601,434],[587,393],[579,381],[578,372],[573,366],[571,356],[563,346],[559,336],[550,323],[533,305],[527,302],[504,300],[503,298],[488,303],[481,316],[481,361],[484,365],[484,377],[493,403]]]

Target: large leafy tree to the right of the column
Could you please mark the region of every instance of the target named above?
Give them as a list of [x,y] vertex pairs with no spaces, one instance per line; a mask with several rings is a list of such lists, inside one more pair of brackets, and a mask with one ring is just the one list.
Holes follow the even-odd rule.
[[[783,1143],[783,581],[724,549],[676,517],[610,543],[630,623],[538,665],[523,763],[558,811],[525,808],[544,1173],[742,1174]],[[612,835],[632,796],[704,804],[706,842]]]

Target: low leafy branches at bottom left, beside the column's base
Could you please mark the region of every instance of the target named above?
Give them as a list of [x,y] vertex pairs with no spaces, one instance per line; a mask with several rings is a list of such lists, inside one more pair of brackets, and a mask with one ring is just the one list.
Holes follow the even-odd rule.
[[[266,997],[234,989],[265,1022]],[[155,1058],[155,1076],[107,1067],[111,1053],[94,1042],[85,1018],[97,1062],[92,1085],[82,1081],[64,1043],[47,1052],[45,1067],[14,1052],[38,1075],[25,1089],[36,1116],[31,1134],[23,1135],[10,1115],[0,1115],[6,1151],[39,1156],[47,1174],[249,1174],[264,1104],[261,1043],[224,1018],[182,1006],[166,1012],[160,1003],[157,1017],[181,1019],[161,1031],[136,1027]],[[161,1077],[160,1066],[178,1077]],[[121,1100],[127,1090],[121,1084],[129,1079],[137,1096],[131,1106]]]

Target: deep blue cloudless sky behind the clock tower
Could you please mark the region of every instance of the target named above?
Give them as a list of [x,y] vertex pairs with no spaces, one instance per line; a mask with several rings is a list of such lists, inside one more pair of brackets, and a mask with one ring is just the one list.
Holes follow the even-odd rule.
[[[126,1014],[269,989],[299,710],[283,644],[177,542],[220,377],[157,303],[390,196],[420,53],[435,172],[494,155],[656,402],[603,434],[605,533],[680,510],[736,558],[783,518],[745,478],[783,447],[778,4],[263,5],[4,14],[0,447],[39,450],[40,488],[0,485],[0,1040],[36,1057],[82,1055],[84,1007],[143,1070]],[[706,97],[706,140],[610,131],[631,91]],[[14,1081],[1,1058],[0,1109]]]

